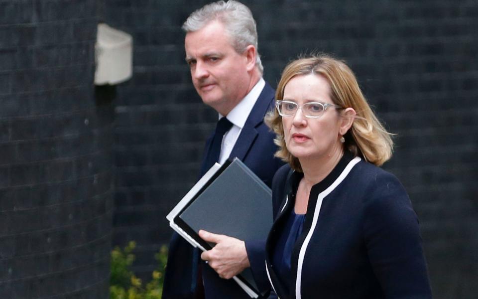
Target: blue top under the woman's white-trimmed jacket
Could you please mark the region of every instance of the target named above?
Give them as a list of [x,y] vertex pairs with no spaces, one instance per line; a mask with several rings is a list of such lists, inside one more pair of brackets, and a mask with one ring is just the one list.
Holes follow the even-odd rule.
[[296,214],[292,209],[274,250],[273,265],[277,271],[277,277],[285,286],[289,285],[292,250],[302,233],[304,220],[305,214]]

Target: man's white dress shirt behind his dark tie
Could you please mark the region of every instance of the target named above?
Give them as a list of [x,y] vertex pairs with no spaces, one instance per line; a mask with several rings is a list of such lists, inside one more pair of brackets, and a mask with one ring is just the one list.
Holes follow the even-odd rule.
[[[254,107],[254,104],[257,101],[257,98],[259,98],[264,86],[265,81],[260,78],[249,93],[226,116],[227,119],[233,123],[233,127],[224,134],[223,142],[221,144],[221,153],[219,155],[220,164],[223,164],[231,155],[231,151],[233,151],[234,145],[238,140],[240,131],[242,131],[245,121],[249,117],[250,111],[252,110],[252,107]],[[223,116],[219,114],[219,119],[222,117]]]

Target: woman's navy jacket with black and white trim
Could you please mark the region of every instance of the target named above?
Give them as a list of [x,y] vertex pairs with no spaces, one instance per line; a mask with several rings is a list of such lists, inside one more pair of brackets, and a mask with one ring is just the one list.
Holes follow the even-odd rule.
[[266,264],[280,299],[432,297],[418,219],[405,189],[395,176],[350,152],[312,187],[290,277],[278,277],[276,242],[302,176],[284,165],[272,183],[275,222]]

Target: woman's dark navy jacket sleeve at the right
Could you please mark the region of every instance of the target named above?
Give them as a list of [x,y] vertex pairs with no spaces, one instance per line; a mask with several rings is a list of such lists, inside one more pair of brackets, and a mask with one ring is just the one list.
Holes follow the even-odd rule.
[[418,218],[404,187],[392,174],[379,174],[366,194],[365,244],[385,297],[432,298]]

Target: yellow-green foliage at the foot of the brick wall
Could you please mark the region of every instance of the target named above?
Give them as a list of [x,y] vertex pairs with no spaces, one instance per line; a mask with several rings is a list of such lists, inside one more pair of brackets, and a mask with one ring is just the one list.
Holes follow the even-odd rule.
[[132,253],[135,247],[136,243],[131,241],[124,249],[116,247],[111,252],[110,298],[161,299],[168,248],[162,246],[160,251],[154,256],[158,262],[158,267],[151,274],[151,281],[146,286],[143,286],[141,280],[130,270],[130,266],[135,258]]

